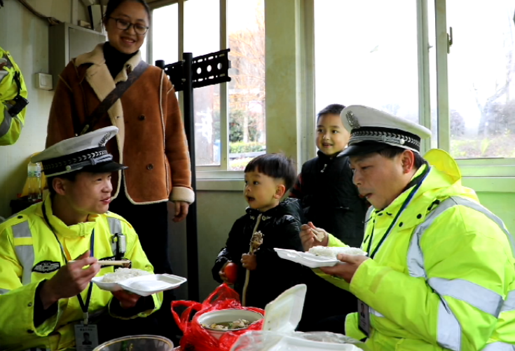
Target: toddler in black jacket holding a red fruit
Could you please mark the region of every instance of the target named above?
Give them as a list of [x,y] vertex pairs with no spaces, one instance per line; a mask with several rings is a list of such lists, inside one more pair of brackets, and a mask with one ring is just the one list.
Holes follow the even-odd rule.
[[[282,260],[274,251],[274,248],[303,251],[299,237],[300,201],[281,201],[295,178],[293,161],[283,154],[263,154],[245,168],[244,196],[249,207],[229,232],[212,274],[218,282],[227,282],[224,268],[230,262],[236,263],[238,278],[234,289],[247,306],[265,308],[280,293],[301,283],[303,267]],[[262,243],[254,253],[249,253],[256,232],[263,234]]]

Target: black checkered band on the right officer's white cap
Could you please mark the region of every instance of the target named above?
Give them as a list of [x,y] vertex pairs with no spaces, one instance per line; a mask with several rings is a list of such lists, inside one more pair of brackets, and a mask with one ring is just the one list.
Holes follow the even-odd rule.
[[361,142],[385,143],[420,152],[420,138],[406,131],[394,128],[361,127],[350,132],[349,145]]

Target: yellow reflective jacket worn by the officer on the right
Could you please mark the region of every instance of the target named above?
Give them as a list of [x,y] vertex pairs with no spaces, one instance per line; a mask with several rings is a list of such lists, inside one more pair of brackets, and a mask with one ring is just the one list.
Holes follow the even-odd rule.
[[[461,185],[451,156],[431,150],[425,158],[430,172],[376,256],[350,284],[320,275],[369,305],[371,350],[515,350],[514,241]],[[410,190],[369,211],[362,249],[372,230],[371,251],[378,246]],[[329,238],[329,246],[343,245]],[[345,331],[362,339],[358,320],[349,314]]]

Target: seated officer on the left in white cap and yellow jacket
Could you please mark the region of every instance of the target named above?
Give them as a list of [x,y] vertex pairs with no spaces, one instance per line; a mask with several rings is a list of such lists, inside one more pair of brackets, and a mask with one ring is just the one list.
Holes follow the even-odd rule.
[[114,272],[97,260],[128,259],[153,272],[132,226],[107,211],[111,172],[126,168],[105,147],[117,132],[101,128],[32,158],[43,164],[50,196],[0,224],[0,350],[80,351],[84,333],[93,344],[102,339],[95,321],[108,309],[123,319],[159,309],[162,293],[143,298],[92,284]]

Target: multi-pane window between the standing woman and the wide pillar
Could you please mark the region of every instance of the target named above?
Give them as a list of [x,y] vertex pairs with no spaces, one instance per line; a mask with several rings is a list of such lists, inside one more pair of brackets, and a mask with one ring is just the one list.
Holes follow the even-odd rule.
[[153,9],[151,60],[168,64],[181,59],[180,52],[196,57],[231,48],[231,82],[193,91],[198,177],[218,178],[219,171],[242,171],[266,150],[264,0],[183,4]]

